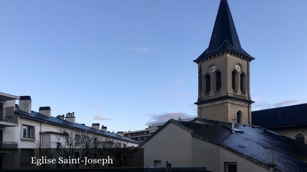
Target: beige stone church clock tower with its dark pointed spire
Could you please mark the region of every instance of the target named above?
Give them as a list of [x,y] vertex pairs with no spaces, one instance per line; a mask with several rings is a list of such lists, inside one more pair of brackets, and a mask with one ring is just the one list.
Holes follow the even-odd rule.
[[227,0],[221,0],[209,47],[198,65],[198,118],[251,124],[250,62]]

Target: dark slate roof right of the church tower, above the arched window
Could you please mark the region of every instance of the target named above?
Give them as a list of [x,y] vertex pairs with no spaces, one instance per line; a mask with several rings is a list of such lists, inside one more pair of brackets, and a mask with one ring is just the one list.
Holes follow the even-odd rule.
[[265,128],[307,126],[307,103],[252,111],[253,125]]

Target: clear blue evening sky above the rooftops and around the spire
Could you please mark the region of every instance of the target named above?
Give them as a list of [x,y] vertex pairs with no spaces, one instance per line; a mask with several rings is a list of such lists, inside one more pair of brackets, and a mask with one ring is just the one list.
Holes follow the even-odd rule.
[[[111,132],[195,117],[219,0],[0,1],[0,92]],[[307,103],[304,0],[228,0],[252,110]],[[94,119],[96,117],[96,119]]]

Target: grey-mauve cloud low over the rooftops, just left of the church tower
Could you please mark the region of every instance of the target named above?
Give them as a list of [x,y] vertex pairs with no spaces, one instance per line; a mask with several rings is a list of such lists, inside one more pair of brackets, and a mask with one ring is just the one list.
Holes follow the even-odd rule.
[[176,113],[167,113],[167,114],[160,114],[160,115],[150,115],[151,120],[148,121],[145,125],[151,125],[151,124],[159,124],[163,122],[167,122],[169,119],[188,119],[188,118],[195,118],[194,115],[187,115],[182,112],[176,112]]

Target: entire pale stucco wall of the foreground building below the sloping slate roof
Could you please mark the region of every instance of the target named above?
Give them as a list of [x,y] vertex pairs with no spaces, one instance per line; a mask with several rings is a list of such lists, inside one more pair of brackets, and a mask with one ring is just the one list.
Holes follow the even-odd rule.
[[207,170],[224,172],[224,162],[236,162],[238,172],[268,172],[269,170],[219,145],[190,135],[188,130],[169,123],[144,143],[144,165],[154,160],[173,160],[172,166],[206,166]]

